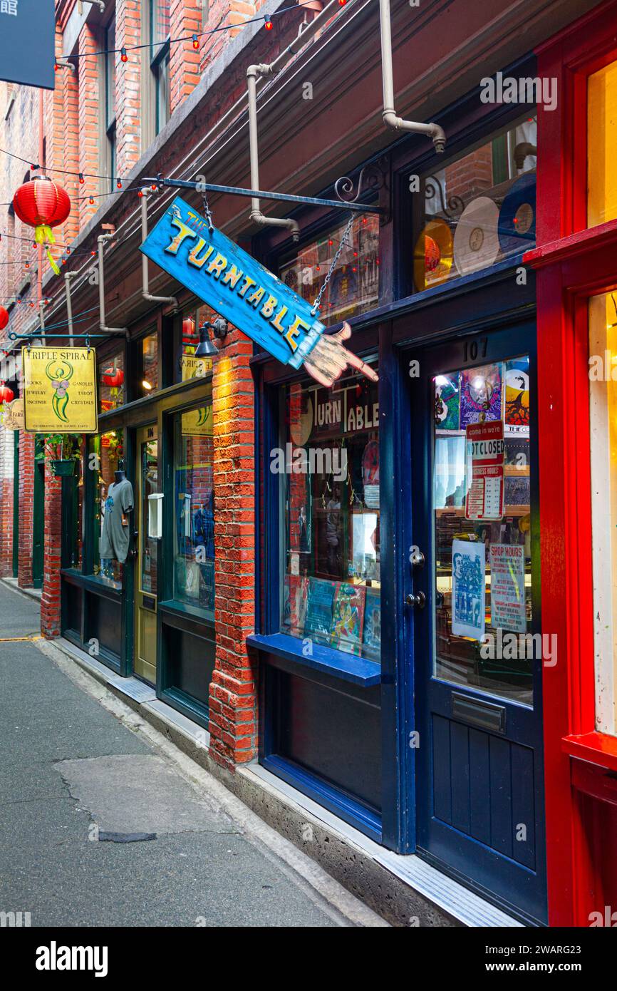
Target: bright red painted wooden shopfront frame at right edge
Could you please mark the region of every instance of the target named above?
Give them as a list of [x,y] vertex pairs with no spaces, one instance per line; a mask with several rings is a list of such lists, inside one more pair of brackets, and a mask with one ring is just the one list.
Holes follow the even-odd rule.
[[[617,220],[585,229],[587,76],[617,59],[616,38],[611,2],[537,51],[559,94],[556,110],[538,107],[538,247],[525,256],[537,270],[542,626],[558,634],[543,674],[551,926],[588,926],[589,891],[602,890],[580,818],[581,789],[593,789],[576,757],[604,777],[617,762],[617,740],[594,727],[587,323],[588,297],[617,287]],[[616,850],[603,856],[614,872]]]

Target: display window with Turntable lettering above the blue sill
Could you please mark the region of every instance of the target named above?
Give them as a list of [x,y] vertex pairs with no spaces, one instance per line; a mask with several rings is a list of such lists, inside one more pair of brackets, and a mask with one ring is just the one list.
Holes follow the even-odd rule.
[[270,452],[285,492],[281,630],[378,661],[376,385],[287,385],[284,399],[285,446]]

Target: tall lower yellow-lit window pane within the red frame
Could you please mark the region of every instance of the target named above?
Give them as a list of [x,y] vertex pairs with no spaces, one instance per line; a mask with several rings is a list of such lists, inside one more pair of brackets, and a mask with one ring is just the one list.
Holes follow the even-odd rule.
[[589,300],[595,721],[617,735],[617,292]]

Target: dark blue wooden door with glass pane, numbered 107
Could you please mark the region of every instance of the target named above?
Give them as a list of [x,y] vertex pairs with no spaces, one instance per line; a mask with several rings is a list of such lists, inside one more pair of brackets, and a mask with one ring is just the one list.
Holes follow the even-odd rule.
[[[417,845],[469,887],[544,923],[542,665],[557,655],[550,638],[545,650],[533,636],[535,330],[460,337],[412,357]],[[467,424],[478,422],[493,424],[482,436],[503,439],[489,459],[501,451],[502,464],[488,473],[476,457],[486,445],[469,446]]]

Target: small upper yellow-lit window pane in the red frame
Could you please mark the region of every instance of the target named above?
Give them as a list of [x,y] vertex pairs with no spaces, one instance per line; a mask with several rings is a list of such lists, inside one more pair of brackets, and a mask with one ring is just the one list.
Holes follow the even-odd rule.
[[617,217],[617,61],[587,82],[587,226]]

